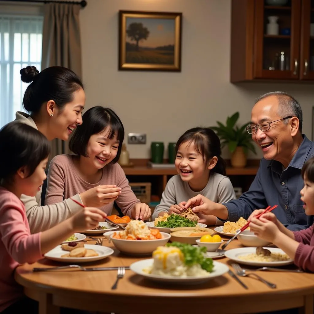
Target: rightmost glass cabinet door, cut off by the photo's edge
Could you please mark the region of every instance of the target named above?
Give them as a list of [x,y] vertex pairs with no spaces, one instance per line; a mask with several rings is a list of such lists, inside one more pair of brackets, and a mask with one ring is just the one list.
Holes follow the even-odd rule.
[[302,0],[300,78],[314,80],[314,0]]

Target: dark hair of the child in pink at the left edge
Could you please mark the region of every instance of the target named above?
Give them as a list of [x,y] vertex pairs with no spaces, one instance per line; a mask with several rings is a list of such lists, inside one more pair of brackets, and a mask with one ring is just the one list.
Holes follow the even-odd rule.
[[10,181],[23,166],[27,166],[27,176],[31,176],[48,157],[50,143],[35,128],[13,121],[0,130],[0,151],[0,180]]

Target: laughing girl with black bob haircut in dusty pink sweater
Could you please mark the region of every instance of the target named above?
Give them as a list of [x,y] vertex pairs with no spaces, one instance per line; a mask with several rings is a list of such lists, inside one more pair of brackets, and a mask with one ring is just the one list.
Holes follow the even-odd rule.
[[82,203],[96,206],[106,214],[111,214],[116,200],[124,215],[148,219],[149,206],[136,198],[117,164],[123,139],[122,122],[113,110],[102,106],[87,110],[83,124],[70,139],[69,148],[74,155],[59,155],[51,160],[46,204],[80,193]]

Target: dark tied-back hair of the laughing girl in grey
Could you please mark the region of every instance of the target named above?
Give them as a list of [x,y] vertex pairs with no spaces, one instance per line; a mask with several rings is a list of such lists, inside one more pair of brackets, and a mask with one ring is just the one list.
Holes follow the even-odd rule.
[[211,170],[222,175],[226,175],[226,162],[221,155],[220,140],[217,134],[209,127],[193,127],[180,136],[176,143],[176,153],[179,146],[185,142],[194,142],[194,149],[203,155],[204,162],[216,156],[216,165]]

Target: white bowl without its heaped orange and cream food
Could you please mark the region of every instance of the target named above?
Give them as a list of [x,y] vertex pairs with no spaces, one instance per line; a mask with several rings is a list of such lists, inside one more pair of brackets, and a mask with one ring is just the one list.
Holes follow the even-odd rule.
[[157,240],[123,240],[113,238],[114,231],[105,232],[104,236],[112,243],[114,246],[125,254],[130,255],[148,255],[153,253],[153,251],[158,246],[164,246],[170,239],[170,234],[165,232],[160,232],[162,239]]

